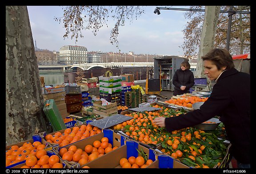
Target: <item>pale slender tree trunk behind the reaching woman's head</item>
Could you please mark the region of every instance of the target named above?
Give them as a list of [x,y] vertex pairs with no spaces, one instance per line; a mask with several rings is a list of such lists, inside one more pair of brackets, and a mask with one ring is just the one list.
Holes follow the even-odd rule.
[[207,54],[214,43],[214,35],[220,13],[220,6],[205,6],[204,23],[200,38],[199,54],[196,65],[195,78],[204,78],[202,56]]

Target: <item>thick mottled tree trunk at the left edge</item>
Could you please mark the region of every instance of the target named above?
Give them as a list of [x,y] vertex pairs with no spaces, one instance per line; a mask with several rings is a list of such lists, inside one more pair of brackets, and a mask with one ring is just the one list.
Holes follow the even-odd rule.
[[[6,145],[52,131],[43,111],[39,69],[26,6],[5,6]],[[47,132],[48,133],[48,132]]]

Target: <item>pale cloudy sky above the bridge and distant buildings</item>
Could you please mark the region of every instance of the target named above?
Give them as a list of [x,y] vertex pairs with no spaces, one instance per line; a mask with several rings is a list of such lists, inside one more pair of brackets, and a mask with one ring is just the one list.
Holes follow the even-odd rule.
[[[181,46],[184,43],[184,30],[188,19],[186,11],[160,10],[154,13],[157,6],[144,6],[144,13],[132,22],[127,20],[119,27],[119,48],[110,43],[111,30],[115,21],[109,18],[108,27],[100,28],[96,36],[91,30],[84,30],[84,38],[63,37],[63,23],[55,21],[55,17],[63,16],[61,6],[27,6],[34,44],[39,49],[59,51],[60,47],[73,45],[85,46],[90,51],[120,52],[134,54],[184,55]],[[172,6],[172,8],[189,8],[189,6]]]

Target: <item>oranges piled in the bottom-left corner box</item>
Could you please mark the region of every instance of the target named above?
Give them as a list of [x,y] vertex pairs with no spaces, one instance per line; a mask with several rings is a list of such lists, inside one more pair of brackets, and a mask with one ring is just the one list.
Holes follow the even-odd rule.
[[5,166],[25,160],[26,165],[21,168],[63,168],[59,163],[59,157],[57,155],[49,157],[44,148],[45,145],[39,141],[26,142],[21,147],[13,145],[5,152]]

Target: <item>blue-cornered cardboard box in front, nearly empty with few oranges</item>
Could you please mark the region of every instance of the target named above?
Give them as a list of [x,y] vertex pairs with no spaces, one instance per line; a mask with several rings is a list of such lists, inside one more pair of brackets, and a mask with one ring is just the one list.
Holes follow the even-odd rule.
[[[140,156],[138,151],[141,149],[148,155],[148,159],[152,159],[152,163],[146,168],[158,168],[158,160],[156,158],[157,151],[151,148],[141,146],[138,142],[127,139],[125,144],[121,147],[115,149],[114,151],[109,152],[91,162],[88,162],[84,166],[89,166],[90,168],[122,168],[120,166],[120,159],[128,159],[130,156]],[[137,151],[138,150],[138,151]],[[82,167],[82,166],[80,166]]]

